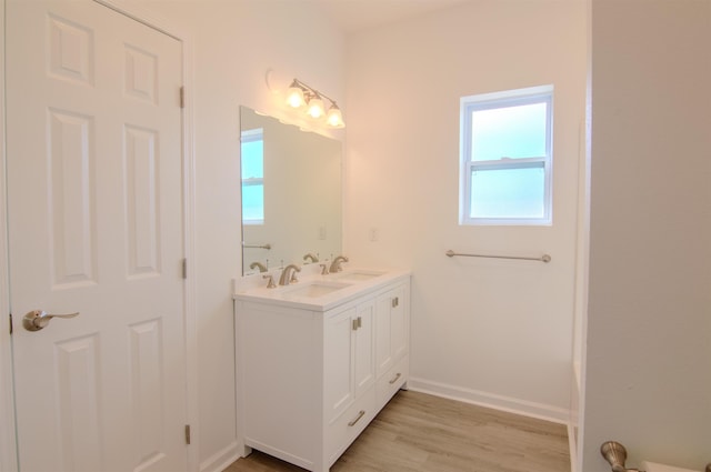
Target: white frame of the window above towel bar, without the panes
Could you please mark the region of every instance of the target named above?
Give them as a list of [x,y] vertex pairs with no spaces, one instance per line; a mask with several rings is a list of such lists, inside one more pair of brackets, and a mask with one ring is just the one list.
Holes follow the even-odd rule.
[[[474,161],[471,149],[471,116],[473,111],[530,103],[548,103],[545,155],[525,159]],[[553,182],[553,86],[529,87],[502,92],[462,97],[460,100],[460,224],[462,225],[551,225]],[[524,169],[542,167],[543,217],[541,218],[471,218],[471,173],[475,169]]]

